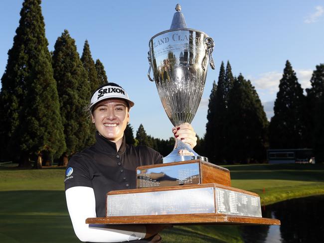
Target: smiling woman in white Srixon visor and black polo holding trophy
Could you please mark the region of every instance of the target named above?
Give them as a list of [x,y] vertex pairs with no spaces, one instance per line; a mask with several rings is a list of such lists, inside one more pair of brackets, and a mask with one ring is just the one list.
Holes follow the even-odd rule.
[[[115,83],[100,86],[92,95],[90,113],[96,126],[96,143],[70,159],[65,195],[76,236],[82,242],[161,242],[165,227],[152,225],[88,225],[86,218],[105,217],[106,193],[136,188],[138,166],[161,163],[162,155],[147,146],[125,143],[124,131],[134,106],[126,91]],[[190,124],[173,127],[175,137],[196,145]]]

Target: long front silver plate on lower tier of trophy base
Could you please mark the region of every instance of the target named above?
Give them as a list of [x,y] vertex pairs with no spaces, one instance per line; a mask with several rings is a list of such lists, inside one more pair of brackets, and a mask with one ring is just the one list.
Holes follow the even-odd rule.
[[214,188],[107,196],[107,217],[215,213]]

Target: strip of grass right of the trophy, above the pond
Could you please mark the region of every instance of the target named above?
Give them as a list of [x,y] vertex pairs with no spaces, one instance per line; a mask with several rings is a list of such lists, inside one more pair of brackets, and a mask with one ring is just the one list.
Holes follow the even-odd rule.
[[229,165],[232,186],[260,195],[261,204],[324,194],[324,164]]

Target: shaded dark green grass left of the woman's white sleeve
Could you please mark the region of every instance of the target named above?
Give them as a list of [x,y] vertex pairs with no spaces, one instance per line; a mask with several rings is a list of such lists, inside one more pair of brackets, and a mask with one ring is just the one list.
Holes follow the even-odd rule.
[[78,243],[64,191],[0,192],[1,243]]

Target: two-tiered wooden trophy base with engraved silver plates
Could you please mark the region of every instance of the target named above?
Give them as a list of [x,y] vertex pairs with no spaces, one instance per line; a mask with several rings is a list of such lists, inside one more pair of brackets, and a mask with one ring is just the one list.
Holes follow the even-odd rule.
[[106,216],[87,224],[280,225],[259,195],[231,187],[226,168],[188,160],[137,168],[137,189],[107,193]]

